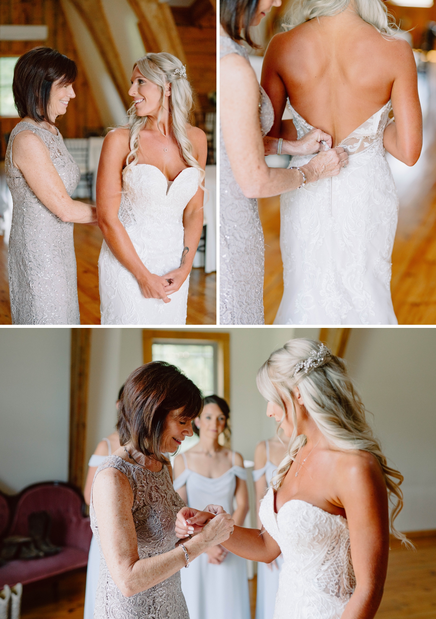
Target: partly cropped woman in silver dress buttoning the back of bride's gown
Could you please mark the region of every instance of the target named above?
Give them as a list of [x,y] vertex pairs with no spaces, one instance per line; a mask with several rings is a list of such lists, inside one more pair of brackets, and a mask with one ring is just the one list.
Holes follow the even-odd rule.
[[[281,0],[220,2],[221,324],[263,324],[264,242],[257,198],[336,176],[348,157],[341,147],[324,152],[325,145],[331,147],[331,136],[320,129],[295,141],[263,137],[273,126],[273,106],[241,45],[241,31],[247,43],[256,47],[250,27],[280,4]],[[288,170],[268,168],[265,163],[265,155],[317,152],[306,165]]]

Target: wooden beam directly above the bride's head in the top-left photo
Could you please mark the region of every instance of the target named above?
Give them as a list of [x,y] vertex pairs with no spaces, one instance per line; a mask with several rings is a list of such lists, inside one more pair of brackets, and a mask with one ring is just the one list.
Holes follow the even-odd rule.
[[173,13],[166,2],[158,0],[128,0],[139,19],[145,49],[158,53],[168,51],[186,64],[181,38]]

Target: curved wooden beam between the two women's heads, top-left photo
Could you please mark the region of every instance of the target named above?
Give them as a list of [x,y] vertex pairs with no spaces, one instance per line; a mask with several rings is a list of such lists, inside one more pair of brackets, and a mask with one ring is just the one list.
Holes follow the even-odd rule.
[[128,95],[130,82],[124,72],[101,0],[71,0],[71,2],[91,33],[119,96],[128,110],[132,103]]

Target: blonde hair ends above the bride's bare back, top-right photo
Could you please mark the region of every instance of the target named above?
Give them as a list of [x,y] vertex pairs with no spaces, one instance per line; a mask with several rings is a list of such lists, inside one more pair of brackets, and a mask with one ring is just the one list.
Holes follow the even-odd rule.
[[[345,11],[350,0],[294,0],[284,16],[283,30],[291,30],[315,17],[331,17]],[[354,0],[357,15],[378,32],[395,35],[398,26],[382,0]]]

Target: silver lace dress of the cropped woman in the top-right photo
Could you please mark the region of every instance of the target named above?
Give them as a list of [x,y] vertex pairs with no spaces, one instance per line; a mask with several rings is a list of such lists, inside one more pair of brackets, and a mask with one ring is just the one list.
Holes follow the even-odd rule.
[[[246,48],[220,37],[220,59],[239,54],[249,62]],[[259,86],[260,131],[265,136],[274,111]],[[220,123],[220,324],[264,324],[263,230],[257,199],[247,198],[234,179]]]

